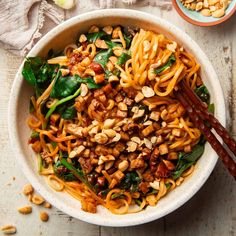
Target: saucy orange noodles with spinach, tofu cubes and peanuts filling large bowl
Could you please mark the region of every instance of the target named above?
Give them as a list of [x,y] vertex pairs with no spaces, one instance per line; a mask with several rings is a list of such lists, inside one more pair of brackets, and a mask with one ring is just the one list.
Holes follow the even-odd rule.
[[195,58],[164,35],[108,29],[44,62],[52,74],[30,98],[29,144],[48,185],[83,210],[137,213],[194,172],[204,140],[175,91],[203,83]]

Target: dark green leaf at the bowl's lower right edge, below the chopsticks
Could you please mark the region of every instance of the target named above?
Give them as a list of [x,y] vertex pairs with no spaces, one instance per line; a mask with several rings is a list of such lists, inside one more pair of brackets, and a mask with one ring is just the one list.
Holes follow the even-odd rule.
[[191,153],[179,153],[179,160],[175,171],[172,173],[173,179],[178,179],[185,170],[194,165],[204,152],[204,145],[197,144]]

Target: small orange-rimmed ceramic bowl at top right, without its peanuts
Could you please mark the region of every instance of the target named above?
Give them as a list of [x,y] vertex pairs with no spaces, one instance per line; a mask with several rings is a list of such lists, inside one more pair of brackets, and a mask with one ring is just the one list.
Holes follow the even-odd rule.
[[225,11],[225,15],[220,18],[203,16],[200,12],[189,10],[183,6],[180,0],[172,0],[172,3],[182,18],[184,18],[189,23],[199,26],[218,25],[228,20],[236,11],[236,0],[231,0],[231,3]]

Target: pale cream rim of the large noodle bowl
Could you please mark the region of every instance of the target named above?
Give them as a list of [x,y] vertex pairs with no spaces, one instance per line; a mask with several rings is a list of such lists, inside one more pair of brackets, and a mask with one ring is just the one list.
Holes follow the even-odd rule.
[[[94,18],[101,18],[101,16],[104,17],[128,17],[131,19],[141,19],[143,21],[149,21],[161,28],[163,28],[163,25],[168,28],[168,32],[170,32],[173,36],[178,33],[178,37],[181,38],[182,42],[189,45],[191,42],[192,47],[194,47],[198,53],[200,53],[201,58],[203,58],[204,61],[208,64],[207,70],[208,73],[211,75],[211,78],[217,78],[214,80],[214,89],[217,90],[217,97],[215,98],[215,102],[217,102],[218,107],[221,108],[221,113],[219,114],[219,120],[221,121],[222,125],[225,125],[226,119],[225,119],[225,100],[223,96],[223,91],[220,85],[220,82],[218,80],[218,77],[216,75],[216,72],[214,71],[214,68],[205,55],[205,53],[200,49],[198,44],[193,41],[190,36],[188,36],[185,32],[180,30],[178,27],[172,25],[168,21],[153,16],[149,13],[144,13],[136,10],[128,10],[128,9],[105,9],[105,10],[96,10],[88,13],[84,13],[81,15],[78,15],[76,17],[73,17],[64,23],[56,26],[51,31],[49,31],[45,36],[43,36],[39,42],[33,47],[33,49],[29,52],[27,56],[35,55],[35,52],[39,52],[40,48],[43,47],[43,45],[47,44],[50,39],[54,38],[55,35],[57,35],[60,32],[63,32],[66,28],[73,27],[74,25],[78,24],[80,21],[88,21],[89,19]],[[181,36],[180,36],[181,35]],[[21,151],[20,141],[18,139],[17,135],[17,102],[18,102],[18,96],[21,88],[22,83],[22,76],[21,71],[23,68],[23,62],[15,76],[15,79],[13,81],[11,94],[10,94],[10,100],[9,100],[9,109],[8,109],[8,132],[10,137],[10,144],[11,148],[13,150],[13,153],[16,155],[16,159],[18,160],[19,165],[22,168],[22,172],[27,177],[29,182],[32,183],[32,185],[35,187],[35,189],[41,194],[47,201],[52,203],[56,208],[60,209],[61,211],[65,212],[68,215],[71,215],[79,220],[101,225],[101,226],[113,226],[113,227],[122,227],[122,226],[133,226],[133,225],[139,225],[144,224],[156,219],[159,219],[163,216],[168,215],[169,213],[173,212],[183,204],[185,204],[190,198],[192,198],[195,193],[202,187],[202,185],[205,183],[205,181],[210,176],[211,172],[213,171],[216,162],[218,160],[217,155],[215,153],[212,153],[212,158],[208,163],[209,169],[207,169],[204,174],[200,175],[199,178],[197,178],[196,184],[192,186],[190,189],[191,191],[186,192],[185,194],[182,194],[179,199],[176,202],[171,202],[170,205],[168,205],[165,209],[165,211],[161,212],[155,212],[155,214],[151,214],[148,217],[129,217],[128,219],[123,219],[121,217],[117,217],[118,220],[112,221],[110,219],[102,219],[102,217],[94,217],[91,213],[83,214],[81,211],[73,211],[69,206],[66,204],[62,204],[61,200],[57,199],[54,194],[51,194],[45,187],[45,184],[41,184],[38,182],[38,174],[34,170],[30,168],[30,166],[27,164],[26,161],[24,161],[24,155]],[[134,216],[134,215],[133,215]]]

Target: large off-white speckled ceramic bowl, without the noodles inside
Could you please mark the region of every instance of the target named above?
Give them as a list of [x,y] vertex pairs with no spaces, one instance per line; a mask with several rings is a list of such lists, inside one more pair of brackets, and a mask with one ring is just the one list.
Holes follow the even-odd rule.
[[[109,9],[93,11],[72,18],[47,33],[30,51],[28,56],[46,55],[49,49],[63,49],[68,43],[74,42],[78,33],[86,32],[91,25],[123,25],[137,26],[144,29],[161,32],[181,43],[191,52],[201,64],[201,75],[209,88],[212,101],[216,104],[215,115],[225,125],[225,103],[222,89],[217,75],[204,52],[182,30],[168,23],[166,20],[150,14],[133,10]],[[96,214],[81,210],[80,202],[70,195],[52,190],[45,179],[37,173],[36,157],[27,144],[30,129],[26,125],[29,98],[33,91],[24,81],[19,68],[16,74],[9,103],[9,135],[12,149],[22,168],[22,171],[35,189],[52,205],[61,211],[80,220],[104,226],[131,226],[143,224],[163,217],[187,202],[204,184],[211,174],[217,155],[206,144],[204,155],[196,165],[191,177],[161,199],[155,207],[127,215],[114,215],[104,207],[99,206]]]

